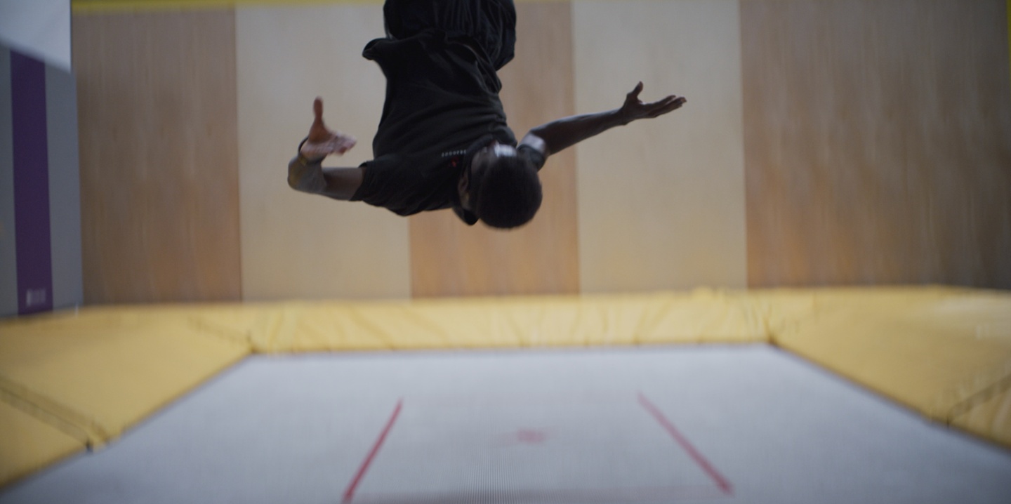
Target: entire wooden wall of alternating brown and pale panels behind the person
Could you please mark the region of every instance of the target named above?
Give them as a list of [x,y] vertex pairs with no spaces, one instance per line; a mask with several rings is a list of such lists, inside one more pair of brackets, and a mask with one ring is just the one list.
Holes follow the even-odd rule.
[[316,95],[360,141],[333,164],[370,157],[383,80],[360,53],[380,2],[86,3],[88,303],[1011,288],[1006,1],[519,2],[518,135],[639,80],[688,103],[553,157],[541,213],[510,232],[284,184]]

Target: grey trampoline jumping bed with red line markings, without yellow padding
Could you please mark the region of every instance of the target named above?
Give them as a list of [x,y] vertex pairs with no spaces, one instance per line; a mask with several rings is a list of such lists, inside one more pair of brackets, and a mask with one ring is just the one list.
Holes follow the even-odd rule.
[[1009,496],[1011,452],[754,344],[256,356],[0,502]]

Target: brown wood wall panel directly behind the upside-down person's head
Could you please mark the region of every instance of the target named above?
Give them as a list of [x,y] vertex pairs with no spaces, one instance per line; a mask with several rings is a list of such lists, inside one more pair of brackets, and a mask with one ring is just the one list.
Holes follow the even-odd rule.
[[[505,114],[520,139],[574,109],[568,2],[521,3],[517,15],[516,59],[499,77]],[[413,296],[577,292],[574,149],[551,157],[541,181],[541,210],[518,230],[467,226],[449,210],[411,216]]]

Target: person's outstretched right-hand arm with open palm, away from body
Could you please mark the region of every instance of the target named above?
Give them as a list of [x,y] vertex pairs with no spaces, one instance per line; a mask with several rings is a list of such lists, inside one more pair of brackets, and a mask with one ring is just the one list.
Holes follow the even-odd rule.
[[659,101],[643,103],[639,99],[641,92],[640,82],[626,95],[625,104],[621,108],[594,114],[573,115],[542,124],[531,129],[522,143],[537,148],[545,157],[551,156],[615,126],[672,112],[687,101],[683,96],[670,95]]

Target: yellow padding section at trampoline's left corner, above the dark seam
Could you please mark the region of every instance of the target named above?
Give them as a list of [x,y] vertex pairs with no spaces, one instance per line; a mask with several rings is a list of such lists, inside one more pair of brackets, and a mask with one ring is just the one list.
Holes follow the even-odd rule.
[[100,445],[250,352],[242,334],[202,327],[199,312],[98,308],[4,321],[0,391]]

